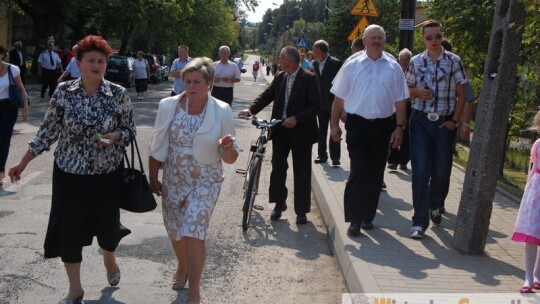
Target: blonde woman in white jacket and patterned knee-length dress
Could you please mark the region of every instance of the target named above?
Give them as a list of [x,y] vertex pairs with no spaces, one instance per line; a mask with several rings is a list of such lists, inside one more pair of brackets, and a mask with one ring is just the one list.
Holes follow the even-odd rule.
[[231,108],[209,94],[213,62],[195,58],[181,77],[185,92],[159,103],[149,178],[152,191],[163,195],[163,221],[178,259],[172,288],[182,289],[189,281],[188,302],[199,303],[206,231],[223,182],[222,161],[234,163],[239,149]]

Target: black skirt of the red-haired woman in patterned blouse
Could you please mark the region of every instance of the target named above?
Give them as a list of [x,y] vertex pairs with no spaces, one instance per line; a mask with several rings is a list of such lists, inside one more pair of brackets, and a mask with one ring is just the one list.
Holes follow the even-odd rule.
[[123,165],[106,174],[71,174],[54,163],[45,258],[80,263],[83,246],[92,245],[94,236],[101,248],[116,250],[120,239],[130,233],[120,224],[118,189],[122,172]]

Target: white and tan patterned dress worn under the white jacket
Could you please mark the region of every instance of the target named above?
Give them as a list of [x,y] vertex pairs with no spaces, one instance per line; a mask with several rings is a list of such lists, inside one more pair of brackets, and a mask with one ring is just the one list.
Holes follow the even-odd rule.
[[193,158],[195,132],[206,108],[188,115],[180,106],[170,126],[168,157],[163,164],[163,220],[172,241],[184,236],[204,240],[223,182],[221,160],[201,164]]

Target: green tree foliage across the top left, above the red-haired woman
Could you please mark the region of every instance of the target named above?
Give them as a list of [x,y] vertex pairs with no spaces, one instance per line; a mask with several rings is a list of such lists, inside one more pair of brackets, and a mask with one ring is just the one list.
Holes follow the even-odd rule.
[[[212,56],[227,44],[240,48],[240,7],[257,0],[14,0],[30,17],[36,37],[75,42],[104,36],[120,52],[176,53],[179,43],[197,55]],[[67,30],[66,30],[67,29]],[[42,43],[42,42],[41,42]]]

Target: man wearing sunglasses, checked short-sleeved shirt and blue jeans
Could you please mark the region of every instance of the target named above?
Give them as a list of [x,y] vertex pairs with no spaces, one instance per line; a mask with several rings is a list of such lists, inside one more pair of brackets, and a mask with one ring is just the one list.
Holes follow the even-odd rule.
[[441,24],[422,26],[426,50],[411,59],[405,75],[412,99],[409,119],[414,215],[411,238],[421,239],[429,219],[441,223],[443,189],[452,162],[454,129],[465,105],[467,77],[461,59],[441,46]]

